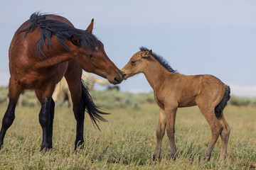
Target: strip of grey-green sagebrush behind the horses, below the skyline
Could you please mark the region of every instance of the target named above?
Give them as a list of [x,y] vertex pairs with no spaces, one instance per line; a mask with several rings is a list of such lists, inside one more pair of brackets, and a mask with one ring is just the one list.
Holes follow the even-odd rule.
[[[143,103],[155,103],[153,93],[131,94],[121,91],[92,91],[92,97],[97,105],[105,108],[133,108],[139,109]],[[23,106],[36,106],[38,100],[34,91],[25,91],[21,94]],[[0,87],[0,103],[8,101],[8,88]],[[228,104],[233,106],[256,107],[256,98],[231,96]],[[65,104],[64,106],[68,106]]]

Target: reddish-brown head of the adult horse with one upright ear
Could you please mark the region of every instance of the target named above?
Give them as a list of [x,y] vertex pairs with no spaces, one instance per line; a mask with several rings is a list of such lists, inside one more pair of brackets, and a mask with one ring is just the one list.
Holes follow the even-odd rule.
[[[111,84],[119,84],[122,82],[122,72],[115,66],[115,64],[107,57],[104,50],[104,45],[100,40],[92,35],[93,19],[90,26],[87,28],[87,34],[92,37],[90,47],[85,50],[81,42],[81,38],[72,36],[70,41],[72,44],[69,46],[73,52],[75,61],[80,64],[82,69],[86,72],[95,73],[101,77],[106,78]],[[87,36],[87,35],[86,35]]]

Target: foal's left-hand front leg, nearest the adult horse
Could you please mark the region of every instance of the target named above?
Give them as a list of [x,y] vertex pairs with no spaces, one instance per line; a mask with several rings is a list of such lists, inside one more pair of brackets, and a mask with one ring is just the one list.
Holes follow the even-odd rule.
[[161,154],[161,144],[164,137],[164,132],[166,128],[166,115],[163,109],[159,109],[159,124],[156,129],[156,149],[152,156],[151,162],[154,162],[156,158],[160,157]]

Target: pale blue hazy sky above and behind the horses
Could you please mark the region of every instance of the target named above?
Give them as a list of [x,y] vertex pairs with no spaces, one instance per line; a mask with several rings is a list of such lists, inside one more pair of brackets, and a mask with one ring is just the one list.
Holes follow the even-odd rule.
[[[119,69],[145,46],[182,74],[212,74],[230,85],[231,94],[256,97],[254,0],[1,0],[0,85],[8,84],[11,39],[36,11],[64,16],[80,29],[95,18],[93,34]],[[152,91],[143,74],[119,87]]]

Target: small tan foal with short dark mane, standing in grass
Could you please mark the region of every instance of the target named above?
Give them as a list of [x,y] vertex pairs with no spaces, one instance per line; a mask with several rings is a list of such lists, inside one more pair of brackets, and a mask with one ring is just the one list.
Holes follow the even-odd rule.
[[229,86],[212,75],[179,74],[166,60],[146,47],[141,47],[121,71],[124,79],[144,73],[146,80],[154,89],[154,98],[159,106],[159,124],[156,129],[156,149],[151,158],[152,162],[160,157],[165,129],[170,140],[171,157],[175,157],[174,126],[177,108],[196,105],[209,123],[212,132],[204,158],[210,159],[219,135],[220,157],[225,158],[230,127],[223,116],[223,109],[230,98]]

